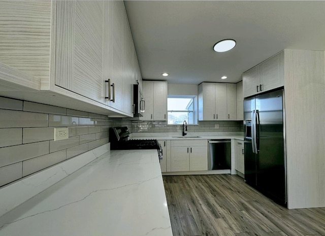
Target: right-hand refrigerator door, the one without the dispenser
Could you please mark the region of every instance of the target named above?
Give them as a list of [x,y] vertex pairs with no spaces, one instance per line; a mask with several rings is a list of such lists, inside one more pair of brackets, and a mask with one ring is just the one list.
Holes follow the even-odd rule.
[[283,90],[259,95],[259,145],[256,155],[256,186],[277,202],[286,202],[283,125]]

